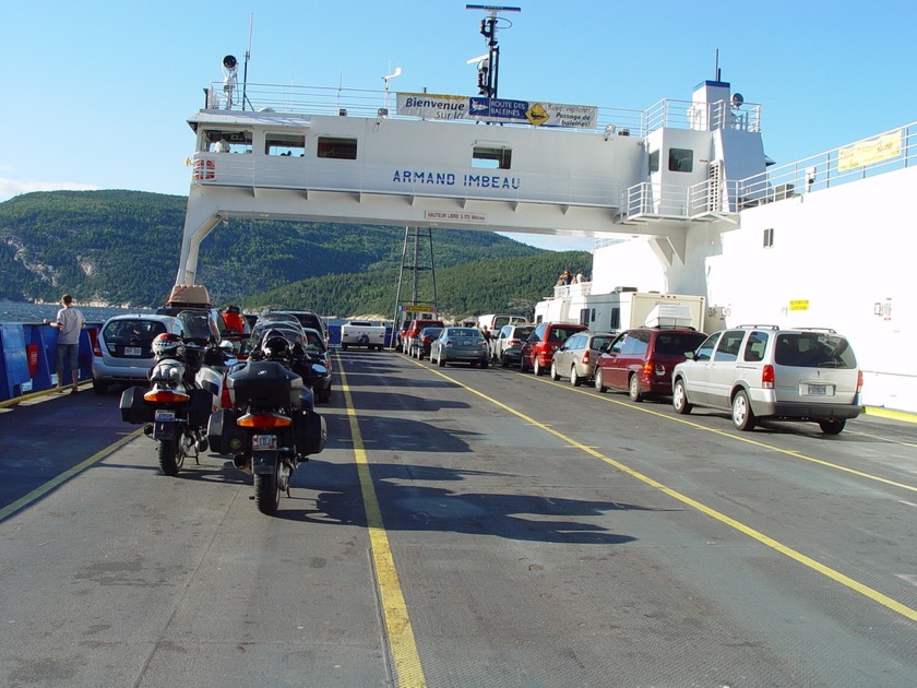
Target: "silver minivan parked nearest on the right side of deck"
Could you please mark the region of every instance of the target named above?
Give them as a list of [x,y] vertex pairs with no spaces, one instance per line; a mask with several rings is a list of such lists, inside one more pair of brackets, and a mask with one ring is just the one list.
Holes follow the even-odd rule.
[[834,330],[742,325],[707,337],[672,375],[672,404],[731,412],[739,430],[761,418],[812,420],[837,435],[861,412],[862,371]]

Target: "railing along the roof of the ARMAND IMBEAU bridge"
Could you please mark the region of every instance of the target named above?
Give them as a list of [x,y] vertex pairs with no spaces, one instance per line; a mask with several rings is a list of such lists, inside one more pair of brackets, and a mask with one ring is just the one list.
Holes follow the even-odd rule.
[[[277,84],[241,84],[226,91],[222,82],[212,82],[205,90],[205,109],[269,110],[324,116],[422,118],[397,114],[397,93],[378,90],[290,86]],[[726,102],[695,106],[686,100],[663,99],[650,109],[597,107],[595,129],[571,129],[605,135],[645,137],[660,127],[713,130],[719,128],[760,131],[761,106],[746,103],[739,108]],[[449,120],[474,124],[476,120]],[[505,123],[509,127],[531,127]]]

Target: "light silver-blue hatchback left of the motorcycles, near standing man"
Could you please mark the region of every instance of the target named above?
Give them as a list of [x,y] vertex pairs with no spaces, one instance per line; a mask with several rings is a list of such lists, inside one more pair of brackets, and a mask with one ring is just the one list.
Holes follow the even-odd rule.
[[151,344],[158,334],[187,335],[175,316],[115,316],[93,344],[93,390],[104,394],[109,384],[146,384],[155,359]]

